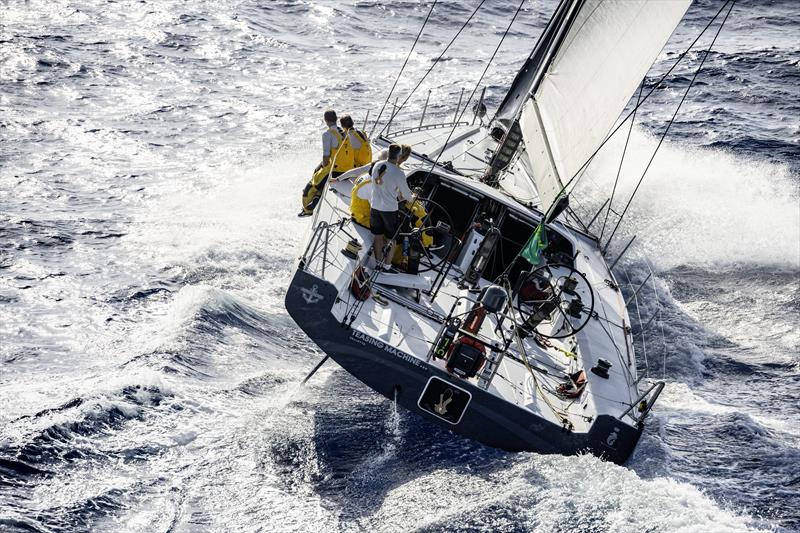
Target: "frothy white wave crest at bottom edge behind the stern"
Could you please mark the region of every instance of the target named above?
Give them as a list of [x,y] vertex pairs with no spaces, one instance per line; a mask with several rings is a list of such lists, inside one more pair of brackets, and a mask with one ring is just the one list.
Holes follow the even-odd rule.
[[[644,480],[592,456],[522,454],[515,464],[489,474],[436,470],[389,492],[371,518],[377,530],[437,529],[470,524],[511,529],[492,512],[511,507],[515,519],[538,532],[760,530],[755,520],[720,508],[699,489],[666,478]],[[433,517],[433,518],[431,518]]]

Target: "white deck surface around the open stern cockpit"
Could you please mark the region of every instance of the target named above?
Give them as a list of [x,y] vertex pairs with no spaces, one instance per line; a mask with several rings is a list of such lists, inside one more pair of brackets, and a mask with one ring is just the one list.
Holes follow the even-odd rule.
[[[433,300],[424,294],[436,277],[436,272],[429,271],[418,276],[380,274],[373,291],[384,296],[388,303],[379,303],[372,297],[357,302],[350,291],[357,262],[341,250],[349,240],[355,239],[361,245],[359,261],[364,262],[367,269],[374,265],[372,259],[366,257],[372,246],[372,235],[350,219],[351,187],[350,182],[333,183],[320,202],[314,226],[323,221],[330,226],[319,233],[316,253],[312,249],[306,268],[338,289],[339,300],[332,309],[338,320],[350,322],[353,330],[376,342],[444,370],[445,362],[430,356],[432,346],[456,300],[460,299],[466,311],[467,304],[477,295],[458,286],[462,273],[453,268]],[[622,296],[613,284],[606,282],[608,278],[603,274],[610,274],[599,253],[589,253],[592,250],[584,249],[586,243],[580,240],[576,245],[579,250],[576,266],[581,271],[585,269],[592,284],[597,318],[571,338],[551,340],[550,346],[542,346],[532,338],[516,340],[508,355],[502,358],[486,390],[555,424],[571,425],[574,431],[587,431],[597,414],[620,416],[635,401],[636,370],[629,336],[622,323],[627,316]],[[311,246],[314,246],[313,238]],[[480,281],[480,287],[488,284],[486,280]],[[423,290],[421,297],[417,292],[420,288]],[[497,341],[503,336],[510,339],[514,336],[511,324],[512,321],[507,320],[497,328],[496,320],[487,317],[480,334]],[[624,351],[620,351],[619,346],[625,347]],[[526,357],[531,368],[524,364]],[[609,379],[599,378],[589,371],[599,357],[612,362]],[[556,387],[566,376],[580,369],[586,370],[587,390],[576,399],[557,394]],[[477,386],[479,378],[480,373],[469,381]]]

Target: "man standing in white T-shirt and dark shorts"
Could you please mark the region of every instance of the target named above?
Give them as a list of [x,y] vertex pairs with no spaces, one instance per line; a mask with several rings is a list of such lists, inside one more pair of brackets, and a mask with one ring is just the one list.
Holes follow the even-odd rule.
[[[373,250],[375,260],[383,264],[385,258],[394,256],[394,242],[399,227],[398,199],[414,201],[411,189],[406,183],[406,175],[398,166],[402,148],[399,144],[389,145],[388,160],[376,164],[372,169],[372,191],[370,194],[369,226],[375,236]],[[387,240],[391,242],[388,255],[384,256]],[[384,268],[391,265],[391,259]]]

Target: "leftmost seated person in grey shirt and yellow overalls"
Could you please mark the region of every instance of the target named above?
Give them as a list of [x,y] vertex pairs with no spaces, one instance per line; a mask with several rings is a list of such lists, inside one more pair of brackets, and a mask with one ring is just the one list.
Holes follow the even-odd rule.
[[336,127],[336,118],[336,111],[333,109],[325,111],[323,115],[327,129],[322,134],[322,162],[303,189],[303,209],[298,216],[305,217],[314,213],[329,176],[339,176],[355,166],[350,135]]

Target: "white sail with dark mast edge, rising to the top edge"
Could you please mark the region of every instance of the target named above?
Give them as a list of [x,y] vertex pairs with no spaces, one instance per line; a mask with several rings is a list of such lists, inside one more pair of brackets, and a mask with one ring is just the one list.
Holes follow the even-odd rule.
[[[541,206],[603,142],[691,0],[562,0],[498,109]],[[501,183],[502,186],[502,183]]]

